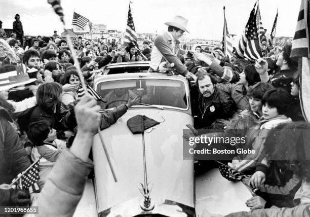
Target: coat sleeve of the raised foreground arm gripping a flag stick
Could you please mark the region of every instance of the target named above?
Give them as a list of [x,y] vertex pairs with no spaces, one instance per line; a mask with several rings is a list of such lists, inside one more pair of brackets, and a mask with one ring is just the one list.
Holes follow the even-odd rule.
[[40,195],[32,203],[32,206],[40,207],[39,213],[26,216],[72,216],[92,169],[90,160],[85,162],[64,149],[47,177]]

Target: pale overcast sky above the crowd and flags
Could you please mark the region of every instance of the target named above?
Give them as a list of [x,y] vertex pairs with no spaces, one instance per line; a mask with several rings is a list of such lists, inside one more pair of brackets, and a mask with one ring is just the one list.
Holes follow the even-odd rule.
[[[241,35],[255,0],[132,0],[131,10],[139,33],[162,33],[165,22],[174,15],[188,19],[188,38],[221,40],[223,6],[229,33]],[[4,28],[12,28],[19,13],[25,34],[52,35],[63,31],[58,16],[47,0],[0,0],[0,20]],[[71,27],[73,10],[93,23],[103,23],[108,29],[124,31],[129,0],[61,0],[65,21]],[[276,36],[294,36],[300,0],[260,0],[262,24],[270,33],[279,8]]]

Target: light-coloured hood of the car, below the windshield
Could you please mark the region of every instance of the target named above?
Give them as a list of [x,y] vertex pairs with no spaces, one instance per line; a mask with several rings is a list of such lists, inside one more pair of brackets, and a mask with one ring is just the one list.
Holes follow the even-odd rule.
[[114,182],[99,136],[94,138],[98,212],[133,198],[143,199],[137,188],[144,182],[142,134],[133,134],[127,126],[127,120],[136,115],[161,122],[144,132],[147,181],[153,184],[150,198],[155,204],[168,199],[194,207],[193,161],[183,160],[182,148],[182,130],[192,124],[192,117],[176,110],[131,108],[101,132],[118,182]]

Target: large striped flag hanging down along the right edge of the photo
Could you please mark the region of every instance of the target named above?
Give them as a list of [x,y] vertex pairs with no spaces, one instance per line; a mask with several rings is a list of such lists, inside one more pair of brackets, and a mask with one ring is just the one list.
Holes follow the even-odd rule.
[[310,54],[309,54],[309,1],[301,0],[297,25],[292,42],[291,58],[301,57],[300,106],[304,119],[310,121]]

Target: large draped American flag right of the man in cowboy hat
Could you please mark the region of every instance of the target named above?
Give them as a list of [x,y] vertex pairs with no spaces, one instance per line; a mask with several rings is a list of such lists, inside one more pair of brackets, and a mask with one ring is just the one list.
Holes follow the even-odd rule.
[[256,60],[262,57],[257,34],[256,16],[254,13],[255,5],[236,49],[235,54],[239,58]]

